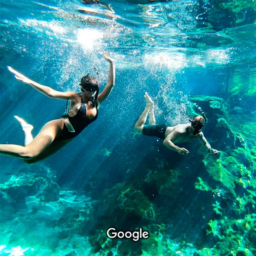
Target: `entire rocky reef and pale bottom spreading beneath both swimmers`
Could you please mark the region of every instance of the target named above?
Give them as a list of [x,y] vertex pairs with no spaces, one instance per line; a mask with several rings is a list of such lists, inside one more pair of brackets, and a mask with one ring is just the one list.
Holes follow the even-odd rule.
[[[122,182],[102,186],[104,172],[90,178],[90,197],[59,187],[46,166],[20,169],[0,184],[1,253],[256,255],[256,124],[247,113],[230,114],[221,98],[190,101],[191,112],[200,106],[206,113],[205,134],[218,155],[192,145],[186,161],[165,148],[156,156],[160,146],[153,143],[140,163],[122,164]],[[111,226],[142,227],[150,237],[109,239]]]

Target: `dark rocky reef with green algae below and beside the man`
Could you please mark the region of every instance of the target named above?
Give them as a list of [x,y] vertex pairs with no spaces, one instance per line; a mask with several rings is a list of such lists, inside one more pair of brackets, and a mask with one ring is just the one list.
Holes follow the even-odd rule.
[[[221,98],[196,96],[190,101],[192,113],[198,114],[198,106],[206,113],[206,133],[211,134],[207,137],[219,154],[199,149],[197,157],[187,156],[184,162],[165,151],[154,157],[153,145],[144,160],[154,169],[137,166],[130,180],[106,190],[96,206],[104,202],[107,207],[101,207],[100,227],[110,223],[123,230],[143,227],[150,239],[140,240],[135,247],[130,240],[110,241],[102,235],[99,241],[93,240],[95,253],[255,255],[256,140],[250,134],[252,121],[241,122],[244,129],[240,129],[236,115],[229,113],[230,105]],[[239,118],[247,120],[246,113]]]

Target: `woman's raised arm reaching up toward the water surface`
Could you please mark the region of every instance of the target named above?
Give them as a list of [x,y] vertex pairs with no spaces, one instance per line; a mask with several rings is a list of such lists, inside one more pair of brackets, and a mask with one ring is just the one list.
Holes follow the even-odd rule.
[[107,52],[104,52],[104,58],[106,61],[110,63],[109,67],[109,75],[108,75],[108,83],[103,89],[102,93],[98,96],[98,102],[99,105],[108,98],[108,95],[111,93],[114,85],[115,85],[115,79],[116,79],[116,68],[115,68],[115,62],[112,58],[108,56]]

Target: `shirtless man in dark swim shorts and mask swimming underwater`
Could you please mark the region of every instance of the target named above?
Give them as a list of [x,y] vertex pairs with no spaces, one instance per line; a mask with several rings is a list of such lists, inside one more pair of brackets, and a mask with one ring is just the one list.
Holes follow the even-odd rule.
[[[199,139],[201,144],[205,146],[210,154],[218,153],[218,150],[211,148],[202,132],[206,121],[204,114],[203,116],[194,116],[193,120],[189,119],[190,123],[187,124],[179,124],[175,126],[167,126],[166,124],[156,125],[156,120],[154,117],[154,102],[148,96],[148,93],[145,93],[144,98],[146,100],[145,109],[134,126],[137,133],[159,137],[160,139],[163,139],[163,145],[183,155],[188,154],[189,151],[186,148],[180,148],[175,144],[190,142],[195,139]],[[149,125],[145,125],[148,114]]]

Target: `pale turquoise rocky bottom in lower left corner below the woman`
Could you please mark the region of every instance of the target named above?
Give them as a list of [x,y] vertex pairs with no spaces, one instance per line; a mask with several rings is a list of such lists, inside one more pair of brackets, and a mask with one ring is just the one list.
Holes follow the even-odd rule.
[[90,209],[90,198],[61,190],[46,166],[18,170],[0,184],[0,255],[88,255],[80,233]]

